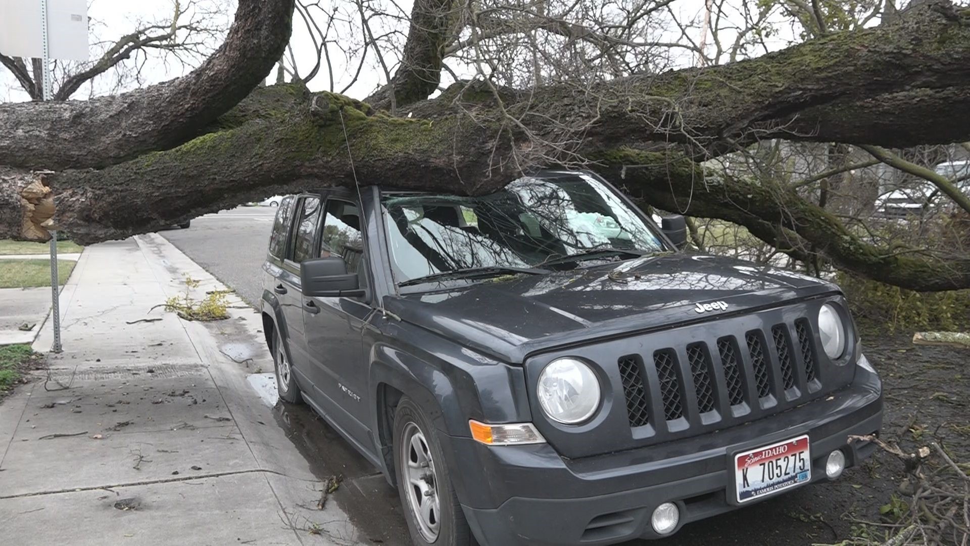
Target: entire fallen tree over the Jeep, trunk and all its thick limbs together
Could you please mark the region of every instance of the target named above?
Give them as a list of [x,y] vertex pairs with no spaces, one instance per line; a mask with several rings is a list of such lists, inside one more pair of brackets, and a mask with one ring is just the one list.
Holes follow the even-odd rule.
[[[425,19],[451,24],[449,6],[430,5]],[[720,66],[531,89],[475,81],[421,100],[437,85],[425,81],[395,94],[396,117],[299,84],[257,86],[285,47],[292,10],[290,0],[242,0],[225,45],[174,82],[87,102],[0,105],[0,237],[27,237],[19,191],[34,181],[30,169],[56,171],[47,177],[51,223],[92,243],[308,181],[351,186],[354,167],[364,185],[473,194],[537,165],[586,165],[659,206],[739,222],[762,239],[805,240],[837,266],[890,284],[970,287],[966,260],[852,233],[833,241],[847,235],[837,219],[763,181],[737,181],[762,191],[726,201],[699,163],[768,138],[889,148],[970,139],[970,12],[949,2]],[[441,30],[435,24],[412,25],[417,46],[404,52],[415,60],[403,63],[402,82],[439,75],[447,42],[425,35]],[[375,98],[384,104],[386,91]],[[644,157],[651,168],[638,170]]]

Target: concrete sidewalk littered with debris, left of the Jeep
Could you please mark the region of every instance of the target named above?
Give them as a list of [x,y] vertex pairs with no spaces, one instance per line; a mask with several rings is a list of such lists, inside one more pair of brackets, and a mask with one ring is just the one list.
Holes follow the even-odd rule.
[[[85,250],[61,292],[64,352],[0,405],[0,542],[367,540],[336,502],[316,509],[324,477],[250,387],[273,370],[259,315],[237,298],[216,323],[149,311],[207,290],[225,287],[157,235]],[[35,350],[51,337],[48,322]]]

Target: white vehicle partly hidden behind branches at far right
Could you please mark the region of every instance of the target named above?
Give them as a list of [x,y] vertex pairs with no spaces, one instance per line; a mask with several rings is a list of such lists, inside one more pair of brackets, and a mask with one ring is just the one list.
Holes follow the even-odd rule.
[[[956,188],[970,193],[970,161],[945,161],[933,169],[954,182]],[[876,200],[876,213],[888,219],[921,219],[946,209],[949,197],[930,182],[918,182],[907,188],[895,188]],[[942,207],[940,203],[945,203]]]

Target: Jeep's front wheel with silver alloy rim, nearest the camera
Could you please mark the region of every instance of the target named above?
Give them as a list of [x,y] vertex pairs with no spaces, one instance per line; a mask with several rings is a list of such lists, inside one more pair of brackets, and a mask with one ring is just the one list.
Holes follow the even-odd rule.
[[421,408],[406,397],[394,414],[394,466],[404,519],[414,544],[474,544],[436,430]]

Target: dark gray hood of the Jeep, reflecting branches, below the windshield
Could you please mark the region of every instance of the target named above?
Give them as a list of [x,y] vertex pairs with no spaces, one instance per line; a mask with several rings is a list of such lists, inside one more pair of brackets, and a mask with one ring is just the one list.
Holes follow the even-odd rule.
[[[422,289],[430,286],[435,285]],[[507,362],[598,337],[711,320],[838,290],[792,271],[686,254],[436,286],[388,297],[385,307],[404,322]],[[727,305],[697,311],[698,303],[715,302]]]

